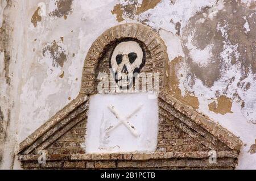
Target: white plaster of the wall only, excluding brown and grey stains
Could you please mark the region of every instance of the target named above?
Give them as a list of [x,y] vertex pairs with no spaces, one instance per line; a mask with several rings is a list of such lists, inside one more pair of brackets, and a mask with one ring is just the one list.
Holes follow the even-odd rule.
[[[243,0],[245,5],[250,5],[251,1]],[[1,1],[0,22],[2,21],[2,6],[5,1]],[[11,89],[8,94],[5,91],[7,85],[2,82],[4,75],[3,70],[3,53],[0,52],[0,83],[1,95],[0,99],[11,99],[11,104],[6,103],[4,114],[7,116],[7,109],[11,108],[11,123],[10,129],[11,139],[10,146],[5,149],[3,159],[5,164],[2,168],[11,168],[11,156],[8,154],[13,151],[13,146],[18,144],[29,134],[40,127],[49,117],[53,116],[57,111],[63,108],[72,99],[75,99],[79,94],[82,66],[93,41],[97,39],[105,30],[119,23],[141,23],[144,22],[148,26],[158,31],[167,45],[170,62],[175,57],[184,56],[183,51],[183,28],[187,26],[189,19],[206,6],[212,6],[206,15],[208,18],[213,18],[216,13],[223,9],[222,1],[217,3],[216,0],[204,1],[171,1],[163,0],[154,9],[149,9],[142,14],[129,16],[129,12],[123,12],[122,22],[118,22],[116,15],[112,14],[113,7],[117,4],[126,5],[126,1],[113,0],[74,0],[72,3],[73,11],[67,16],[57,18],[49,16],[49,12],[56,9],[53,0],[35,0],[35,1],[13,1],[15,7],[11,11],[17,15],[14,19],[14,40],[13,40],[13,62],[10,64],[10,70],[13,73],[11,76]],[[142,1],[138,1],[142,3]],[[31,23],[31,17],[38,8],[38,5],[45,7],[46,14],[42,15],[41,22],[38,22],[34,27]],[[45,5],[45,6],[44,6]],[[43,9],[44,10],[44,9]],[[172,19],[172,20],[170,20]],[[200,20],[203,22],[203,20]],[[181,22],[180,36],[175,29],[175,23]],[[200,22],[199,22],[200,23]],[[245,31],[250,30],[250,26],[245,22]],[[219,27],[224,33],[225,28]],[[222,29],[221,29],[222,28]],[[191,30],[192,32],[192,30]],[[63,37],[63,41],[61,40]],[[36,41],[35,41],[36,39]],[[67,61],[63,67],[53,66],[52,57],[49,55],[43,56],[42,50],[47,43],[56,41],[62,50],[67,55]],[[228,41],[227,41],[228,42]],[[189,43],[189,42],[188,42]],[[199,50],[193,47],[190,42],[188,47],[191,50],[191,56],[195,57],[195,62],[200,66],[205,66],[209,63],[211,56],[211,48],[214,45],[209,45],[204,50]],[[232,48],[229,45],[228,48]],[[236,45],[233,46],[233,49]],[[236,51],[236,49],[235,49]],[[222,58],[225,58],[223,50]],[[202,56],[200,56],[202,55]],[[196,58],[197,57],[197,58]],[[199,57],[199,59],[198,59]],[[228,62],[228,59],[226,60]],[[188,86],[188,82],[178,76],[179,89],[184,96],[185,92],[189,92],[199,99],[198,111],[212,117],[215,121],[227,128],[229,131],[241,138],[246,146],[241,149],[241,155],[237,169],[256,169],[256,154],[248,153],[251,145],[255,144],[256,139],[256,83],[255,75],[252,73],[247,77],[247,81],[251,83],[250,89],[247,91],[237,90],[236,84],[239,79],[236,79],[232,86],[228,87],[226,96],[231,96],[234,92],[238,92],[240,97],[245,102],[245,107],[241,109],[241,102],[233,100],[233,113],[214,113],[209,111],[208,104],[212,102],[216,90],[222,92],[227,86],[227,79],[238,77],[241,72],[237,71],[236,66],[228,66],[228,69],[223,70],[221,79],[214,82],[212,87],[206,87],[200,81],[195,79],[195,85]],[[222,72],[223,72],[222,71]],[[60,75],[63,75],[63,78]],[[178,70],[184,75],[189,73],[186,66],[181,66]],[[71,99],[71,100],[69,100]],[[3,104],[3,103],[1,103]],[[249,112],[249,113],[247,113]],[[15,140],[15,141],[14,141]],[[18,162],[15,162],[14,168],[19,168]]]

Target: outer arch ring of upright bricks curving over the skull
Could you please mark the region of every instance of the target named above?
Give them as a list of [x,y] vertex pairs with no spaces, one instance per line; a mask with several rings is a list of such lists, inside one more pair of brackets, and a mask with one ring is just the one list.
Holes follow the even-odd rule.
[[96,94],[96,70],[102,55],[105,53],[105,48],[114,41],[126,38],[137,39],[146,45],[152,57],[152,72],[160,73],[159,90],[161,91],[163,87],[166,87],[168,54],[164,41],[148,26],[127,23],[109,28],[90,47],[82,70],[80,94]]

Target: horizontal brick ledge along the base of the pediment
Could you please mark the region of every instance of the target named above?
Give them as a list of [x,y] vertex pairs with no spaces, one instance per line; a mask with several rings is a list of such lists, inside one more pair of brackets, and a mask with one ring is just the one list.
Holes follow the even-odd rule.
[[207,151],[101,156],[59,155],[62,158],[59,159],[51,155],[45,164],[36,161],[38,155],[20,156],[19,159],[24,169],[233,169],[238,154],[236,151],[220,151],[217,153],[217,163],[209,163]]

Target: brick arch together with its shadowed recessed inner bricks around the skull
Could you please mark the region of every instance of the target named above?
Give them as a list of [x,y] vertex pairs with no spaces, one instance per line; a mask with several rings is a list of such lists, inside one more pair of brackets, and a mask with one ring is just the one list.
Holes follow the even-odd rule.
[[168,54],[163,40],[151,28],[142,24],[120,24],[106,30],[90,47],[84,61],[80,94],[97,93],[97,75],[100,70],[109,73],[109,58],[121,41],[137,41],[146,56],[142,72],[159,73],[159,90],[166,84]]

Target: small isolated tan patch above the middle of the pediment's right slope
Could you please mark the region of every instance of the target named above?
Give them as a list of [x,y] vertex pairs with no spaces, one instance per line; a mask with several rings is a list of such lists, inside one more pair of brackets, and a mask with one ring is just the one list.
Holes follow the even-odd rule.
[[214,101],[210,103],[208,107],[210,111],[220,113],[221,115],[225,115],[226,113],[233,113],[231,111],[232,100],[224,95],[217,99],[217,103]]

